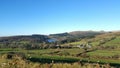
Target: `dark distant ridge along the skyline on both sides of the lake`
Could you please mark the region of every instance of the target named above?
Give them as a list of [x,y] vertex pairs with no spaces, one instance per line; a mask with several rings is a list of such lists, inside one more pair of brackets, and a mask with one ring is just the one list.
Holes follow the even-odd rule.
[[21,36],[10,36],[10,37],[0,37],[0,43],[11,43],[11,42],[34,42],[34,43],[42,43],[49,42],[49,39],[54,39],[54,41],[61,41],[66,39],[79,39],[79,38],[89,38],[95,35],[103,34],[103,32],[95,32],[95,31],[74,31],[70,33],[58,33],[58,34],[50,34],[50,35],[21,35]]

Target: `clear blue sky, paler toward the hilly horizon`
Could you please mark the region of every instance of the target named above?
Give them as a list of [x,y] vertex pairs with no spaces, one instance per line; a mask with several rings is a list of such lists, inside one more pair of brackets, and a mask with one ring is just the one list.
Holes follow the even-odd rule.
[[0,36],[119,29],[120,0],[0,0]]

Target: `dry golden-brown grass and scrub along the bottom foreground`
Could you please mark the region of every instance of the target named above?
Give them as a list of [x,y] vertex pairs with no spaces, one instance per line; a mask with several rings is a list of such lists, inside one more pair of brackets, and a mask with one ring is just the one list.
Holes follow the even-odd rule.
[[[109,64],[90,64],[90,63],[38,63],[30,62],[25,59],[22,59],[18,56],[13,57],[12,59],[6,59],[3,56],[0,56],[0,68],[109,68]],[[113,67],[114,68],[114,67]]]

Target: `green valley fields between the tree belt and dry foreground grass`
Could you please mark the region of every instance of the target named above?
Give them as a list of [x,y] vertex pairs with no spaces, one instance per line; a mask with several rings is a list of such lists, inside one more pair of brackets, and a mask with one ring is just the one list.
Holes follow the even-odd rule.
[[110,64],[113,66],[120,65],[120,59],[110,58],[114,55],[119,55],[119,50],[109,52],[109,50],[96,50],[85,53],[88,57],[76,56],[76,54],[84,52],[83,49],[41,49],[41,50],[23,50],[23,49],[0,49],[1,54],[8,52],[22,52],[26,55],[27,59],[32,62],[39,63],[100,63]]

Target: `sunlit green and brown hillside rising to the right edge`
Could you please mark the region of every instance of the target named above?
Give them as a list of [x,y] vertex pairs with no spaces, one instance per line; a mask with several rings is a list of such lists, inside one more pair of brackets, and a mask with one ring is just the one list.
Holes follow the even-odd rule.
[[93,47],[100,47],[103,49],[120,48],[120,32],[107,32],[100,35],[95,35],[93,38],[84,38],[80,41],[67,43],[65,45],[79,45],[88,43]]

